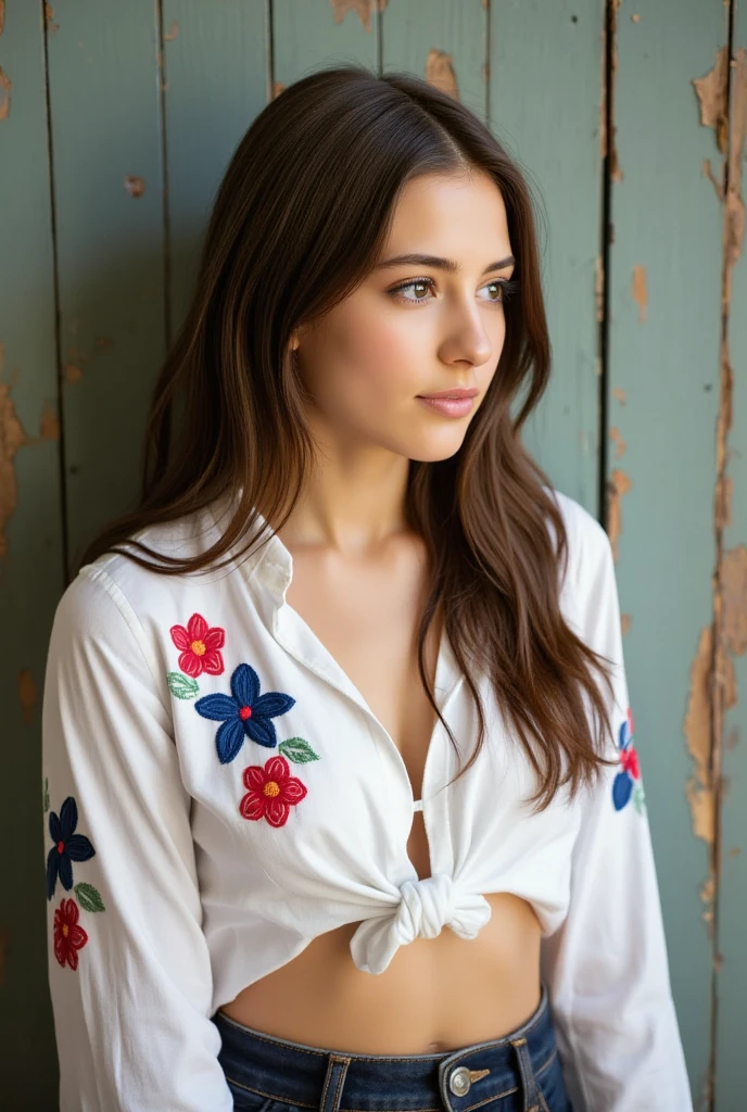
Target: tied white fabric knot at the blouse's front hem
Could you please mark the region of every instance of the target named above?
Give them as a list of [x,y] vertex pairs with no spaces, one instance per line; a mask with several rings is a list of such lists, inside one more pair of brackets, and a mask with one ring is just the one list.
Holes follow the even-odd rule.
[[460,892],[447,873],[405,881],[401,900],[386,917],[365,920],[350,940],[350,953],[363,973],[384,973],[400,946],[419,936],[435,939],[445,926],[460,939],[475,939],[492,909],[484,895]]

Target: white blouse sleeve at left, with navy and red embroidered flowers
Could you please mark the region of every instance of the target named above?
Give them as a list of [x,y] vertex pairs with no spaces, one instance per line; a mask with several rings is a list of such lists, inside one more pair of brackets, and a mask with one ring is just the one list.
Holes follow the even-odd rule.
[[140,623],[84,567],[42,705],[49,986],[61,1112],[229,1112],[171,715]]

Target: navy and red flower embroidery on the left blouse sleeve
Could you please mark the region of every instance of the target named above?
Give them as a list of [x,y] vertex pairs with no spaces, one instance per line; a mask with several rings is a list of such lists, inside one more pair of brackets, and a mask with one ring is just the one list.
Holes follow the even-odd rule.
[[[49,810],[49,793],[47,790],[47,777],[44,777],[44,814]],[[72,888],[72,862],[90,861],[96,855],[96,850],[84,834],[77,834],[78,826],[78,804],[69,795],[60,807],[59,815],[52,811],[49,815],[49,833],[54,845],[47,855],[47,898],[54,895],[57,878],[59,876],[62,886],[68,891]],[[88,932],[78,922],[80,909],[83,911],[98,912],[106,911],[103,901],[98,890],[86,881],[79,881],[74,886],[79,904],[74,900],[60,901],[60,906],[54,909],[54,956],[60,965],[69,965],[71,970],[78,969],[78,951],[88,942]]]

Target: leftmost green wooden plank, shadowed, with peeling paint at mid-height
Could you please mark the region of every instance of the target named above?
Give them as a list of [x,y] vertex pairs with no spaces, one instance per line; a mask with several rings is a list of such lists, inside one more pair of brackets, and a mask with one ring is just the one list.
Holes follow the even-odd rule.
[[0,1106],[51,1109],[40,723],[64,559],[39,4],[8,6],[0,68]]

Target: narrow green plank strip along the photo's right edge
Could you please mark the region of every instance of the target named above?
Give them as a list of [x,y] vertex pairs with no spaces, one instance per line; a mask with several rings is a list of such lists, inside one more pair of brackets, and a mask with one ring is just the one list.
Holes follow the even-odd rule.
[[[721,38],[720,44],[726,42]],[[737,4],[729,98],[731,180],[741,220],[747,202],[747,7]],[[741,129],[741,130],[739,130]],[[714,165],[720,160],[714,158]],[[738,182],[735,173],[739,173]],[[738,192],[737,192],[738,189]],[[733,375],[731,428],[727,434],[726,474],[731,480],[730,519],[724,528],[724,647],[734,668],[736,702],[726,707],[721,745],[725,797],[721,810],[720,883],[716,1019],[716,1106],[728,1110],[745,1098],[745,1001],[747,1001],[747,244],[735,224],[738,258],[731,270],[728,341]]]

